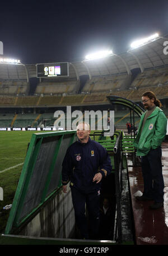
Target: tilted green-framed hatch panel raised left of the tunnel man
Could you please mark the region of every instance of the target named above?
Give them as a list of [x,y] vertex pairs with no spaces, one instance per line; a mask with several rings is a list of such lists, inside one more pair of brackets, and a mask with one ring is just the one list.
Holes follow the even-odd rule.
[[76,131],[33,134],[4,234],[15,234],[61,186],[62,161]]

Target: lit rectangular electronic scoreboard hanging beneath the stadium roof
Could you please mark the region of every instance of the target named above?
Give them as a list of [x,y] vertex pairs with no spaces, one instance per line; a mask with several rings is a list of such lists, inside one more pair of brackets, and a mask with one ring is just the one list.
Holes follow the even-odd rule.
[[36,64],[37,77],[69,76],[68,62]]

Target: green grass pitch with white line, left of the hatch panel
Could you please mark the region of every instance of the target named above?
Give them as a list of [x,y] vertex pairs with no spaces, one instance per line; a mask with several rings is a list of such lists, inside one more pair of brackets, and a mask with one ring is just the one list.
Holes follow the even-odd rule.
[[[26,157],[27,145],[34,133],[34,131],[0,132],[0,187],[3,189],[3,200],[0,200],[0,234],[4,232],[10,213],[3,207],[13,202],[22,171],[22,163]],[[20,165],[17,166],[18,164]]]

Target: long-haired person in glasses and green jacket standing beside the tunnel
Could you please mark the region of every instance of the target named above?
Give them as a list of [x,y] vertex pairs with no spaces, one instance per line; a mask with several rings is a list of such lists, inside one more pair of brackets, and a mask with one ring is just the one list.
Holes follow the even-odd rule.
[[150,208],[158,209],[164,205],[161,143],[166,135],[167,118],[153,92],[143,93],[142,103],[147,111],[141,116],[133,144],[137,148],[137,156],[141,156],[144,191],[136,198],[138,201],[154,200]]

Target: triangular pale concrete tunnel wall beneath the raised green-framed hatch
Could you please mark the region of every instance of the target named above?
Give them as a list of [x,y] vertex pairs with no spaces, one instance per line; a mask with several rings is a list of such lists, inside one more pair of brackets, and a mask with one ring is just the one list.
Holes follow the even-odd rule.
[[71,190],[62,190],[27,224],[18,235],[73,238],[75,230]]

